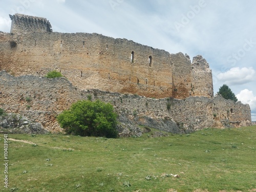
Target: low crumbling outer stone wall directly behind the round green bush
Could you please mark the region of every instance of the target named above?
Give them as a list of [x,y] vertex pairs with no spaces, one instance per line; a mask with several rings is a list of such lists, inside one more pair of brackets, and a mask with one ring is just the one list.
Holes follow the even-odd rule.
[[206,127],[251,125],[248,104],[222,97],[153,99],[99,90],[82,91],[63,77],[14,77],[4,71],[0,72],[0,81],[1,108],[30,117],[49,131],[61,131],[56,115],[68,109],[73,102],[87,99],[88,95],[93,100],[112,103],[121,122],[135,122],[172,133],[189,133]]

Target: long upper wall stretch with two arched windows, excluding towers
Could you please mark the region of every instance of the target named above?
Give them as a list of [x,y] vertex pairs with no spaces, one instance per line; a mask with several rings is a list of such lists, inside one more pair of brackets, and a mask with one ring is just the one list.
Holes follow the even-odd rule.
[[1,68],[14,75],[59,70],[80,89],[172,96],[172,61],[164,50],[95,33],[3,33],[0,39]]

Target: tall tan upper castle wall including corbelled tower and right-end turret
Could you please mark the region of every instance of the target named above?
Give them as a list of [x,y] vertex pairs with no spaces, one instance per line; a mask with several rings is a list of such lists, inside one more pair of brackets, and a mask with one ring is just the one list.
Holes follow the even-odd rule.
[[132,40],[89,33],[52,32],[46,18],[10,15],[11,33],[0,33],[0,70],[15,76],[61,71],[84,89],[183,99],[213,96],[207,61],[170,54]]

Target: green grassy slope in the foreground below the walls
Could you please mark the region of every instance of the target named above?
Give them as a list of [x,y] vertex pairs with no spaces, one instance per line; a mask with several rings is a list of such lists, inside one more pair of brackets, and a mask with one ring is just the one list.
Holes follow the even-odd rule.
[[256,191],[256,126],[155,138],[8,138],[9,187],[1,182],[0,191]]

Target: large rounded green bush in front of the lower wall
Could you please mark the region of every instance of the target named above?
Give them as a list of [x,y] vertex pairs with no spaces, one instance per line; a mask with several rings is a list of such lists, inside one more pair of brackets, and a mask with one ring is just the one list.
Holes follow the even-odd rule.
[[100,100],[79,100],[57,116],[67,134],[80,136],[117,137],[117,114],[113,105]]

